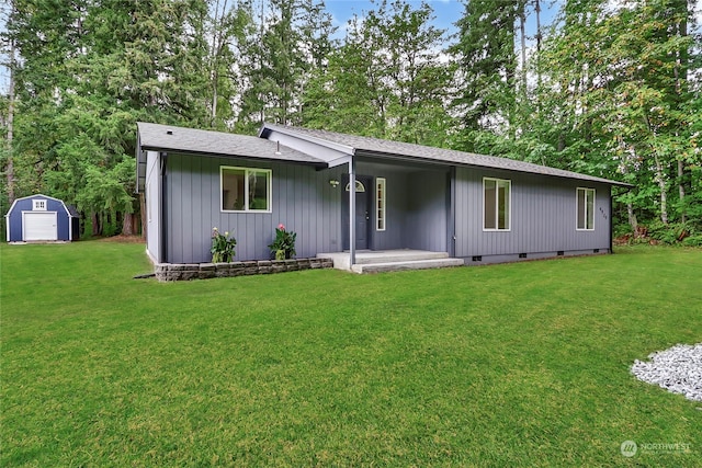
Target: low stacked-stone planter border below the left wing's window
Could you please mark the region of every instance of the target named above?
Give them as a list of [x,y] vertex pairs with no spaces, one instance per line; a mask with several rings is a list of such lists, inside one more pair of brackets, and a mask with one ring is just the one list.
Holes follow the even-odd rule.
[[207,279],[242,275],[267,275],[297,270],[332,269],[331,259],[253,260],[230,263],[158,263],[158,281]]

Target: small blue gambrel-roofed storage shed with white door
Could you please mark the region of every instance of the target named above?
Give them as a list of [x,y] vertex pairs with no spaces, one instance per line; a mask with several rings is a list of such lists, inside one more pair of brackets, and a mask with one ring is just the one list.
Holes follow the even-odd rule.
[[78,240],[78,213],[58,198],[42,194],[18,198],[4,216],[8,242]]

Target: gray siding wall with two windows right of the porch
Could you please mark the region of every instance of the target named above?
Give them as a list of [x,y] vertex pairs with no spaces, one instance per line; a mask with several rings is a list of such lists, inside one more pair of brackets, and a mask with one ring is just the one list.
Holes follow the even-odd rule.
[[[483,179],[511,181],[509,231],[483,229]],[[610,186],[535,174],[456,168],[455,256],[610,249]],[[595,230],[576,229],[576,189],[596,190]]]

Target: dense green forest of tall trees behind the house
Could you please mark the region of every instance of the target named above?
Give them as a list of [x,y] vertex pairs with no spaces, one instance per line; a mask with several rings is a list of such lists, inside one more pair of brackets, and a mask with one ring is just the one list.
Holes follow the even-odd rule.
[[449,28],[367,4],[338,25],[324,0],[5,2],[0,210],[44,193],[84,236],[137,233],[137,121],[265,121],[629,182],[616,235],[702,244],[695,1],[474,0]]

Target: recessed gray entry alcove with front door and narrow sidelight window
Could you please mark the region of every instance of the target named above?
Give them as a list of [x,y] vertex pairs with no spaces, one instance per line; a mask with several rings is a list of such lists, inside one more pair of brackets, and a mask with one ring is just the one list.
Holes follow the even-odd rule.
[[341,185],[340,250],[351,263],[369,251],[453,254],[451,168],[374,157],[356,157],[350,165]]

